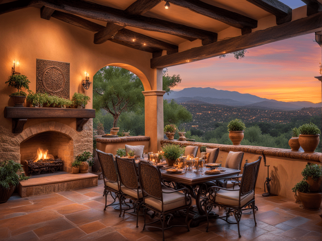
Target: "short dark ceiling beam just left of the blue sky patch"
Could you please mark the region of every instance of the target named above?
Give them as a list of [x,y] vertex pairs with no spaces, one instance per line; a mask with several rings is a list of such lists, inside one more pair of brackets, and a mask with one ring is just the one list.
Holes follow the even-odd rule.
[[292,20],[292,9],[278,0],[247,0],[276,16],[276,24],[290,22]]

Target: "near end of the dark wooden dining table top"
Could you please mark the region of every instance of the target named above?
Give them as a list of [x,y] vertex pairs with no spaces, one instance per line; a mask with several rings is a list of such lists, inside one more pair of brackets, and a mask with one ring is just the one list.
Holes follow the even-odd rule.
[[162,178],[166,181],[183,183],[190,186],[195,186],[207,181],[222,179],[227,176],[237,175],[241,172],[240,170],[236,169],[220,167],[220,169],[224,169],[225,171],[219,174],[205,174],[204,172],[207,169],[208,168],[204,168],[203,172],[196,172],[195,169],[193,171],[188,170],[180,174],[167,173],[165,169],[160,169],[160,171]]

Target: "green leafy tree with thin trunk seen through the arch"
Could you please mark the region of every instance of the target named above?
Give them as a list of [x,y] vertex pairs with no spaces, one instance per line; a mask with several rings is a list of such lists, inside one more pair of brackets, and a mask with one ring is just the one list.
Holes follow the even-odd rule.
[[93,107],[113,116],[113,127],[123,112],[144,106],[141,80],[130,71],[113,66],[101,68],[93,77]]

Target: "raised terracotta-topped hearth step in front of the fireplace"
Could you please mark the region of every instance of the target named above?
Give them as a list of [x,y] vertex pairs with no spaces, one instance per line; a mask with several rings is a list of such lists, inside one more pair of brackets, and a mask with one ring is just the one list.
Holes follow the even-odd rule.
[[97,186],[98,175],[92,173],[60,174],[21,181],[18,193],[22,198],[54,192]]

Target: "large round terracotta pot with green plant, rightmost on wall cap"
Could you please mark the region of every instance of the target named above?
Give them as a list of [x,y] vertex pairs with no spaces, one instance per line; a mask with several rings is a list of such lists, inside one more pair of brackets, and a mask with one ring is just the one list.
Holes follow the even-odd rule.
[[298,128],[298,142],[305,152],[314,152],[320,141],[320,129],[313,124],[304,124]]

